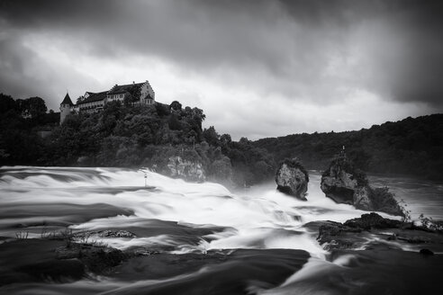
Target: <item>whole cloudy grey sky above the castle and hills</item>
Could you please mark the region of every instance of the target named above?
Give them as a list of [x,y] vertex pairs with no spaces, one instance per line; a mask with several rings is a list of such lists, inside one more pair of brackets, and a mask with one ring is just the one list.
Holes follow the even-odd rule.
[[149,80],[233,139],[443,111],[443,1],[0,0],[0,92]]

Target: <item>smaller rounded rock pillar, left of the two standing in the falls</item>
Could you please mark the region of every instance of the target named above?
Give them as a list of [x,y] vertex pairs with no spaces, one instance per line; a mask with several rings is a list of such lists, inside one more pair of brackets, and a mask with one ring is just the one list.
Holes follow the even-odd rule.
[[277,190],[306,201],[309,174],[297,158],[285,159],[276,173]]

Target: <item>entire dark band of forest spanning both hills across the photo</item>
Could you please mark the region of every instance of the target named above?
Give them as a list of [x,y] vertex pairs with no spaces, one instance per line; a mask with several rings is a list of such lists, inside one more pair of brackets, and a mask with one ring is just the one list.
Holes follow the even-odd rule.
[[0,165],[157,167],[170,156],[202,163],[207,179],[250,185],[272,179],[277,164],[298,157],[323,170],[344,146],[368,173],[442,180],[443,114],[406,118],[346,132],[294,134],[251,141],[203,129],[203,110],[156,103],[107,103],[103,112],[73,113],[59,125],[40,97],[0,94]]

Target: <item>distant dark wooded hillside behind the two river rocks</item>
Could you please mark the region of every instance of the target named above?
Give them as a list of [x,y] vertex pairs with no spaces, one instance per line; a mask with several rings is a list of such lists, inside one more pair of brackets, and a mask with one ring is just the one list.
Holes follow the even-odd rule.
[[343,146],[354,164],[370,173],[412,174],[442,180],[443,114],[411,117],[347,132],[294,134],[259,139],[277,161],[298,156],[308,169],[323,170]]

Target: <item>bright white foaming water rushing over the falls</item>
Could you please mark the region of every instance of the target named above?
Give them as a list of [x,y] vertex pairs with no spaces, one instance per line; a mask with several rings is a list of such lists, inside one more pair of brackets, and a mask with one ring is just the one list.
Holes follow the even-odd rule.
[[[174,237],[161,234],[149,238],[106,239],[106,243],[119,248],[156,243],[174,245],[177,253],[226,248],[290,248],[322,256],[324,250],[315,240],[316,234],[307,232],[303,224],[326,219],[343,222],[365,213],[326,198],[320,190],[318,174],[311,175],[308,201],[299,201],[277,192],[272,183],[233,193],[217,183],[186,183],[149,170],[23,166],[3,167],[0,173],[0,206],[104,203],[134,212],[132,216],[91,219],[71,226],[73,229],[144,227],[149,219],[175,221],[194,228],[225,228],[199,237],[201,242],[197,245],[179,245],[183,241],[174,242]],[[149,188],[144,187],[145,174]]]

